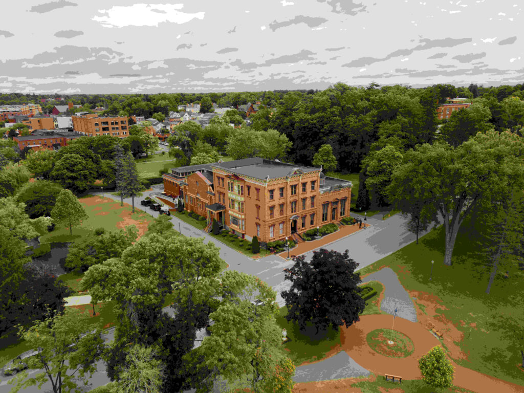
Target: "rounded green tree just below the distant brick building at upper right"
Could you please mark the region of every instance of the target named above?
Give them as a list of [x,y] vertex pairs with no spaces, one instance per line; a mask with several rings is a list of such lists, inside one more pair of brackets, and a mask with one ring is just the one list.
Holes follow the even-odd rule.
[[440,128],[440,137],[452,146],[459,146],[478,132],[485,133],[490,127],[489,109],[479,103],[453,112],[450,121]]

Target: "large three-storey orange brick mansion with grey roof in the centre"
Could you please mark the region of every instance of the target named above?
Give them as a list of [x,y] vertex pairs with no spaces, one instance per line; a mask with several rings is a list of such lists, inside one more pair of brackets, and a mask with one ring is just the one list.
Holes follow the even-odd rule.
[[321,168],[259,157],[173,168],[163,184],[208,224],[216,219],[265,243],[350,215],[351,182],[326,177]]

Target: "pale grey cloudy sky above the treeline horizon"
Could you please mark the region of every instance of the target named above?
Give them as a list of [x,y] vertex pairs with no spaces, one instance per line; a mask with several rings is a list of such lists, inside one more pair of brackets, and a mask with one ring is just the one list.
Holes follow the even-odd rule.
[[523,7],[517,0],[10,2],[0,26],[0,91],[516,84],[524,82]]

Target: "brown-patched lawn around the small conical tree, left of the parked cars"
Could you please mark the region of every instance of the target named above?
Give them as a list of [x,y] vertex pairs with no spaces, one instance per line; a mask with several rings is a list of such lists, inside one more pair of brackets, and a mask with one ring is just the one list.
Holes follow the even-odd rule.
[[[80,198],[79,201],[82,202],[83,199],[84,198]],[[82,203],[85,212],[88,214],[88,218],[82,221],[80,226],[73,226],[72,235],[69,234],[69,228],[63,225],[57,225],[54,231],[40,236],[40,243],[74,242],[85,235],[93,233],[96,228],[100,227],[105,228],[106,231],[116,230],[116,224],[124,220],[123,217],[119,215],[123,212],[130,212],[132,208],[131,206],[126,206],[126,204],[121,207],[120,203],[113,201],[111,198],[104,197],[104,201],[108,203],[98,203],[91,206]],[[138,201],[135,200],[135,203],[137,202]],[[131,213],[129,217],[140,223],[149,223],[153,219],[149,214],[141,210],[135,210],[135,213]]]

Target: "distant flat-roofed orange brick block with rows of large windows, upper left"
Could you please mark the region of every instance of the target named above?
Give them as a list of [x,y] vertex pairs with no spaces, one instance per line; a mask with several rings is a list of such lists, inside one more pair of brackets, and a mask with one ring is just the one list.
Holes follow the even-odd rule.
[[99,117],[97,114],[71,116],[73,129],[82,135],[111,135],[126,138],[128,134],[127,117]]

